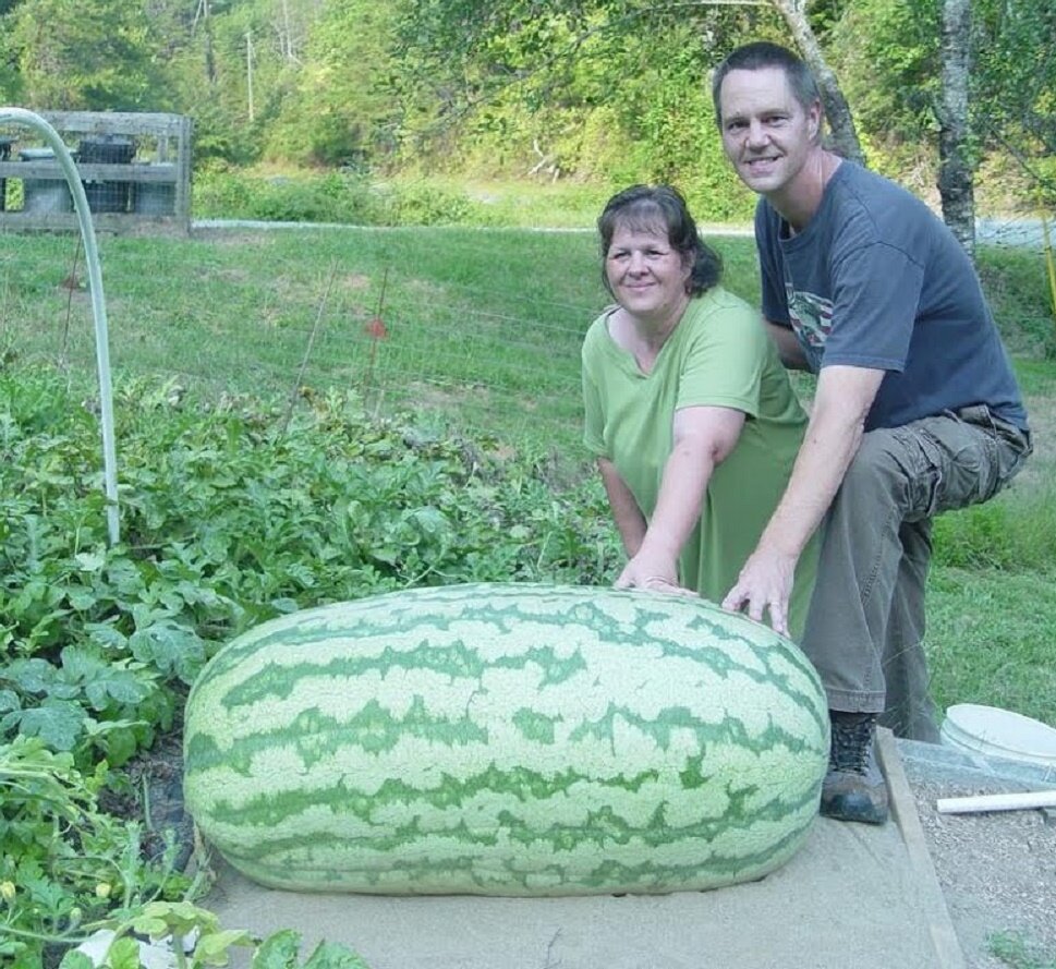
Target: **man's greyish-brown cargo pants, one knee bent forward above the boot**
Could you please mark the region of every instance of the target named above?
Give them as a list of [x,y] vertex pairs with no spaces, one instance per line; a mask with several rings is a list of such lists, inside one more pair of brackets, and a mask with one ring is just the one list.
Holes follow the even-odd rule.
[[825,520],[802,640],[832,710],[938,740],[921,645],[932,519],[993,497],[1030,451],[985,407],[863,436]]

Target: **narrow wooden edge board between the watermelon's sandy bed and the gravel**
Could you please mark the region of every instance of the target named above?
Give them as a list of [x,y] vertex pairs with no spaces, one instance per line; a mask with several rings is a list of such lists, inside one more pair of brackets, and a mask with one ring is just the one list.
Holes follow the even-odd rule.
[[895,823],[902,834],[910,865],[922,888],[924,916],[927,919],[928,933],[937,957],[935,967],[936,969],[967,969],[964,952],[957,937],[949,909],[946,907],[946,896],[943,894],[943,886],[927,848],[924,827],[917,813],[917,799],[913,797],[901,758],[898,755],[895,735],[890,730],[883,727],[876,728],[876,752],[881,770],[887,780]]

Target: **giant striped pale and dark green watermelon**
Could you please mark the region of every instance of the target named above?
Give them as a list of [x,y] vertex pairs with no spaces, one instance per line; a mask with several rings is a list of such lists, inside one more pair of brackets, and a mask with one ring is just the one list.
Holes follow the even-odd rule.
[[186,806],[264,885],[575,895],[758,879],[828,752],[799,649],[697,598],[481,584],[233,640],[186,706]]

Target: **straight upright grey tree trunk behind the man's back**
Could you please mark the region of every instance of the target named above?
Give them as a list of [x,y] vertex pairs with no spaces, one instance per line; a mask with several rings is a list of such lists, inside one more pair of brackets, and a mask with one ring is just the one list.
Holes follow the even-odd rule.
[[968,130],[971,0],[943,0],[943,94],[938,108],[938,194],[943,219],[975,256],[975,184]]

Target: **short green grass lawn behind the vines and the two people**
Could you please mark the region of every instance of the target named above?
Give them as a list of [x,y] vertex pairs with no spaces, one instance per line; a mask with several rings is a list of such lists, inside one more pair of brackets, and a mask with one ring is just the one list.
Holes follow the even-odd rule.
[[[752,241],[712,242],[727,286],[754,301]],[[0,243],[7,359],[56,361],[89,385],[76,241]],[[280,401],[351,390],[371,413],[410,411],[438,432],[487,438],[510,460],[547,460],[562,469],[562,487],[596,500],[579,448],[579,347],[607,301],[591,232],[241,230],[100,245],[117,380]],[[939,522],[927,645],[940,705],[994,703],[1052,719],[1054,326],[1040,258],[986,252],[981,264],[1039,440],[1007,495]]]

